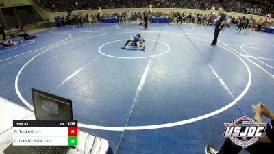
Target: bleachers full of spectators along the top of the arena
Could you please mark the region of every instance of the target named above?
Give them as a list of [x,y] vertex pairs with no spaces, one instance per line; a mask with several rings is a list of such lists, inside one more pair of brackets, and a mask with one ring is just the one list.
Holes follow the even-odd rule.
[[[37,1],[37,0],[34,0]],[[45,7],[49,8],[53,12],[62,12],[67,10],[88,10],[88,9],[98,9],[101,6],[103,9],[109,8],[148,8],[149,4],[153,5],[153,8],[190,8],[190,9],[201,9],[210,10],[212,6],[222,6],[228,12],[238,12],[238,13],[248,13],[249,8],[254,10],[262,10],[261,12],[251,11],[250,14],[262,15],[272,13],[274,15],[273,9],[271,7],[271,0],[266,0],[263,3],[261,1],[190,1],[190,0],[179,0],[179,1],[85,1],[78,0],[77,2],[73,0],[40,0],[40,3]]]

